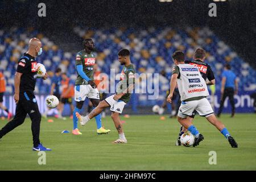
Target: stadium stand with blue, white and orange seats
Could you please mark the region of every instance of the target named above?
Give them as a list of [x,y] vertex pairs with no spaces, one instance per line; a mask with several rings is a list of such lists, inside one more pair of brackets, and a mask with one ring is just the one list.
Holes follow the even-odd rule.
[[[171,73],[173,62],[171,55],[177,49],[186,53],[186,59],[192,59],[197,47],[203,47],[207,51],[207,63],[216,73],[216,90],[220,90],[221,72],[223,65],[229,62],[233,71],[240,79],[239,89],[250,91],[256,88],[255,69],[245,63],[229,46],[222,42],[209,28],[186,28],[185,30],[163,28],[104,28],[93,29],[88,27],[75,27],[74,33],[81,38],[93,38],[98,49],[97,63],[101,72],[110,75],[110,68],[115,73],[121,71],[117,52],[121,48],[129,48],[131,60],[135,64],[137,72],[160,73],[165,70]],[[6,94],[14,92],[14,73],[16,62],[27,49],[28,40],[38,37],[43,43],[43,54],[38,57],[38,62],[46,66],[48,74],[60,67],[67,72],[72,80],[76,79],[75,55],[76,52],[64,52],[50,39],[33,28],[11,28],[0,30],[0,69],[6,77]],[[77,52],[80,50],[77,50]],[[118,78],[118,76],[116,77]],[[141,88],[146,84],[141,80]],[[155,81],[157,84],[158,81]],[[36,94],[48,94],[51,80],[38,81]],[[165,91],[169,88],[169,80],[159,75],[159,99],[162,102]],[[135,94],[130,104],[149,106],[156,104],[155,100],[148,100],[147,94]]]

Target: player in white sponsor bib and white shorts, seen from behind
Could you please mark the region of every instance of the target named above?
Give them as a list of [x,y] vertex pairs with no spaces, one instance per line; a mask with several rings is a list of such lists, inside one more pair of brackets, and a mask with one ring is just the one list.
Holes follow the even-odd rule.
[[172,55],[176,67],[174,67],[170,82],[170,94],[167,97],[168,102],[172,102],[175,85],[177,84],[181,105],[177,120],[185,127],[191,134],[195,135],[195,143],[193,147],[199,145],[201,140],[204,139],[203,135],[199,133],[195,126],[192,124],[192,114],[196,110],[200,116],[204,116],[212,123],[226,139],[228,139],[232,147],[238,147],[236,141],[231,137],[229,131],[224,124],[219,121],[212,110],[212,106],[207,100],[209,92],[204,78],[201,76],[200,71],[193,67],[193,65],[185,64],[184,53],[176,51]]

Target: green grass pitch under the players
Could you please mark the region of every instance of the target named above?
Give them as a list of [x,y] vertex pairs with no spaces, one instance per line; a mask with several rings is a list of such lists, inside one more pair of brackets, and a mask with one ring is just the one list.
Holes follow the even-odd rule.
[[[31,121],[0,139],[0,170],[255,170],[255,114],[222,115],[238,148],[230,147],[219,131],[202,117],[195,126],[204,135],[197,147],[175,146],[179,123],[166,115],[131,115],[123,118],[127,144],[113,144],[118,138],[110,117],[102,119],[107,135],[96,134],[94,119],[80,127],[82,135],[61,134],[72,129],[72,120],[42,119],[40,140],[52,148],[46,152],[46,165],[38,164],[38,152],[32,151]],[[0,120],[2,128],[7,123]],[[209,151],[216,151],[217,164],[209,164]]]

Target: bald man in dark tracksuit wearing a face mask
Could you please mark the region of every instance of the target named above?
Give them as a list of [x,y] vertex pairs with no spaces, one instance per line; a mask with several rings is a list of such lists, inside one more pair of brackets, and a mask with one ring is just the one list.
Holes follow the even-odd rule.
[[[5,127],[0,130],[0,138],[9,133],[15,127],[22,125],[26,115],[30,116],[32,121],[31,130],[33,135],[34,151],[50,151],[44,147],[39,140],[41,114],[35,99],[34,90],[36,84],[36,75],[38,71],[36,56],[42,53],[42,44],[39,39],[32,38],[28,44],[28,51],[20,57],[18,67],[14,77],[16,102],[15,116]],[[43,77],[47,79],[48,75]]]

